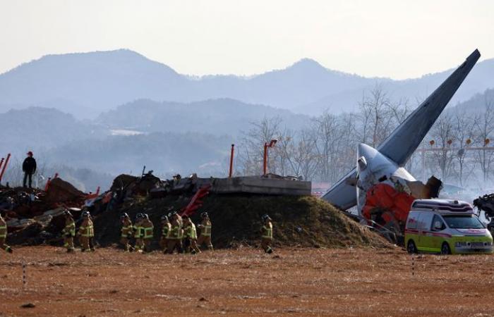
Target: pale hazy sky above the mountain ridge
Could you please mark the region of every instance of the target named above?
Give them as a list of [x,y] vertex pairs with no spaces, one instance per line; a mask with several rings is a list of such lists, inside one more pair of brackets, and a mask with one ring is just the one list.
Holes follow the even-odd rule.
[[494,1],[0,0],[0,73],[45,54],[127,48],[179,73],[262,73],[300,58],[417,77],[494,57]]

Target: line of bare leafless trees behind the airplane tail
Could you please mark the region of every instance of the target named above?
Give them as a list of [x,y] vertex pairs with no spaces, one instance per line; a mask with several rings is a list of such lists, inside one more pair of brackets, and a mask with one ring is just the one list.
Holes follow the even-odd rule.
[[[417,179],[435,175],[460,186],[482,187],[493,180],[494,151],[489,148],[494,146],[494,98],[484,96],[476,111],[447,108],[405,168]],[[300,130],[291,130],[278,117],[253,122],[237,147],[236,173],[258,175],[263,170],[263,144],[277,139],[269,151],[270,173],[337,182],[354,168],[359,143],[377,148],[418,104],[421,100],[392,101],[376,85],[363,94],[359,111],[326,111]]]

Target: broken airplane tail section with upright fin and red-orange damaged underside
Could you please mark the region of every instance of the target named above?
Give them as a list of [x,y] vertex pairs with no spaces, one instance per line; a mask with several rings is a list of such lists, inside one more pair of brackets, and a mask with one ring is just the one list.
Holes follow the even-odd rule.
[[403,168],[438,119],[481,54],[475,50],[430,96],[385,139],[378,149],[359,144],[356,168],[333,185],[323,199],[340,209],[357,206],[363,223],[382,233],[401,236],[415,199],[439,196],[442,182],[429,178],[426,184]]

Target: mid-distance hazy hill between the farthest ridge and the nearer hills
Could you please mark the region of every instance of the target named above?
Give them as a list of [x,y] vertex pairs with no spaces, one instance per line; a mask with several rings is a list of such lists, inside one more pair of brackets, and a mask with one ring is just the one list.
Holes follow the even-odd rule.
[[191,103],[139,99],[102,113],[95,123],[135,132],[200,132],[237,136],[263,118],[278,117],[292,130],[306,127],[311,118],[291,111],[234,99]]

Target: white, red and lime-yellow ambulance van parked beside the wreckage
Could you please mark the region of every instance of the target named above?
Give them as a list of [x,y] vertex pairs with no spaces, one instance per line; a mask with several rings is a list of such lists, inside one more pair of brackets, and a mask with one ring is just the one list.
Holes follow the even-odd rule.
[[493,253],[493,237],[466,201],[416,199],[406,219],[409,253]]

